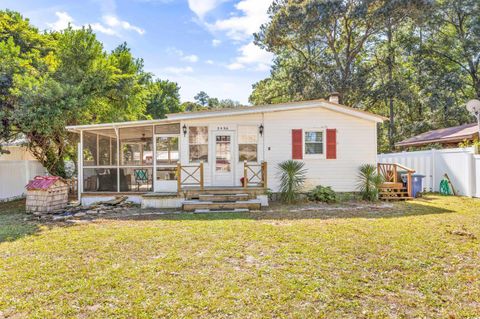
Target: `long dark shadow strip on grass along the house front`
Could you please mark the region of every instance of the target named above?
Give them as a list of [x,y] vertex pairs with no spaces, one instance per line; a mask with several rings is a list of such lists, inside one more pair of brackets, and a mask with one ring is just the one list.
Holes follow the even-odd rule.
[[[423,202],[423,204],[422,204]],[[433,200],[434,202],[434,200]],[[433,214],[447,214],[454,211],[431,205],[432,199],[424,198],[402,203],[366,203],[344,202],[334,205],[326,204],[300,204],[279,205],[258,212],[212,212],[212,213],[179,213],[174,210],[141,210],[132,208],[122,215],[100,215],[90,217],[83,222],[99,222],[105,220],[116,221],[217,221],[217,220],[331,220],[351,218],[401,218],[408,216],[422,216]],[[427,205],[426,205],[427,204]],[[18,200],[9,203],[0,203],[0,243],[15,241],[26,236],[35,235],[41,227],[71,227],[75,223],[52,221],[25,220],[25,201]]]

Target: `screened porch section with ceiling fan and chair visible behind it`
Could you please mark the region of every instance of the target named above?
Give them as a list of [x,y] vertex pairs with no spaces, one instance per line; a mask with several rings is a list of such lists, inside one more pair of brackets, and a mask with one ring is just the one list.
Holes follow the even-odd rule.
[[136,126],[119,129],[120,191],[153,190],[153,127]]

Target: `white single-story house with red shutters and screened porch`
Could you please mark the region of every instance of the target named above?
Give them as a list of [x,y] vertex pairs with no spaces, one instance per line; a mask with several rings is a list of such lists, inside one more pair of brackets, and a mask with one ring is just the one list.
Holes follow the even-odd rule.
[[354,191],[358,167],[376,163],[377,123],[384,120],[341,105],[333,95],[67,129],[80,135],[83,203],[124,194],[142,203],[157,196],[148,205],[161,207],[180,206],[173,196],[192,190],[276,192],[278,163],[288,159],[305,163],[306,187]]

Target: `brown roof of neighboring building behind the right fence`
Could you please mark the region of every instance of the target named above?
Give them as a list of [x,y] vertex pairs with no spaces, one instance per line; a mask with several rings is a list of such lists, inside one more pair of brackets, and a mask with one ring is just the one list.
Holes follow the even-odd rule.
[[465,139],[473,139],[478,136],[477,123],[464,124],[428,131],[395,144],[398,147],[420,146],[430,143],[458,143]]

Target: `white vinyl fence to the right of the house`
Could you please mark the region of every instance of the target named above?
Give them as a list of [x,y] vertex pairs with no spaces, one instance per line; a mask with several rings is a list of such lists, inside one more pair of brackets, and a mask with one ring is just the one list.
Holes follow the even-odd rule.
[[452,148],[417,152],[379,154],[379,163],[399,163],[425,175],[423,188],[439,191],[448,174],[458,195],[480,197],[480,155],[473,148]]

